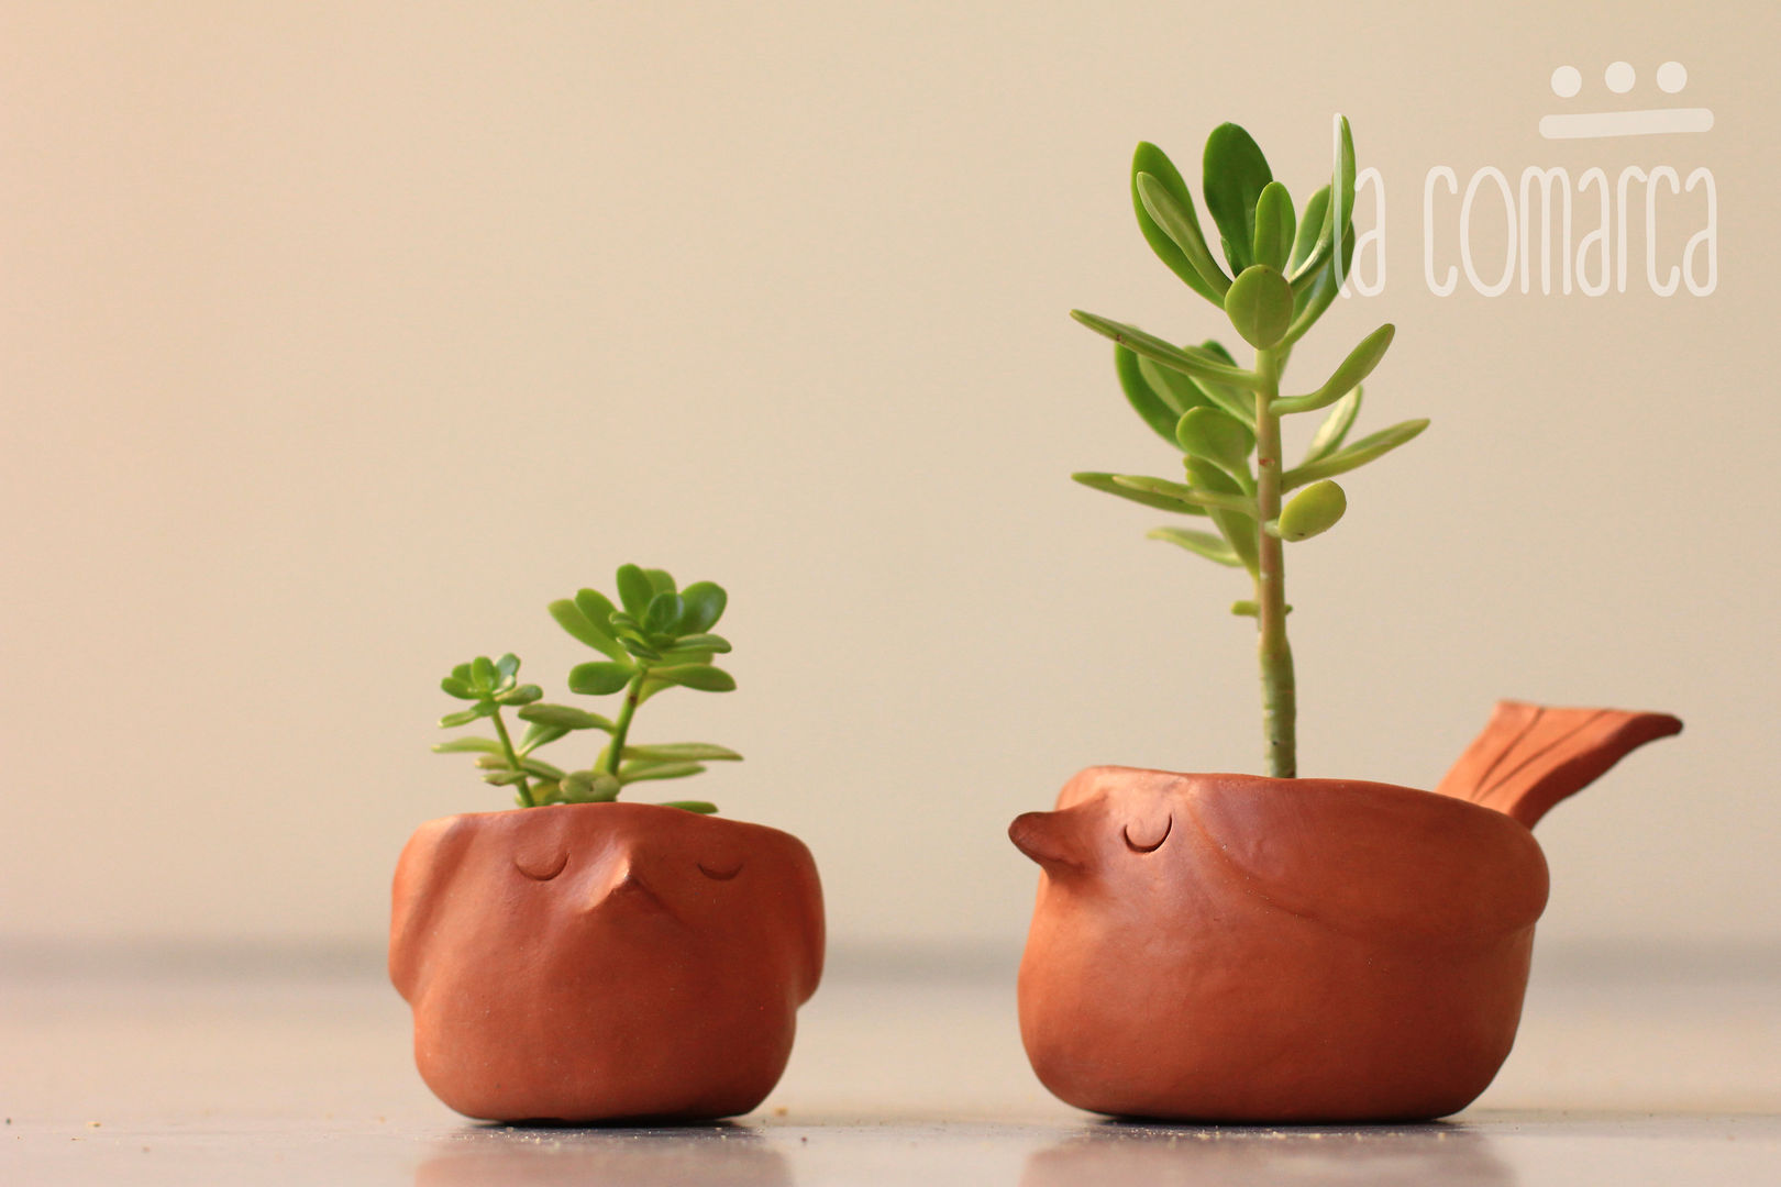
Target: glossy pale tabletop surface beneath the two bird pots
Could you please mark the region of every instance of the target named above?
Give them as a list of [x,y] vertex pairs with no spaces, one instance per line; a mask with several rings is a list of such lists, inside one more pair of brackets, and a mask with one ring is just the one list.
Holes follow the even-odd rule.
[[837,952],[766,1105],[673,1130],[454,1116],[376,952],[0,956],[9,1185],[1781,1183],[1767,954],[1542,954],[1473,1109],[1273,1128],[1053,1100],[1021,1052],[1012,952]]

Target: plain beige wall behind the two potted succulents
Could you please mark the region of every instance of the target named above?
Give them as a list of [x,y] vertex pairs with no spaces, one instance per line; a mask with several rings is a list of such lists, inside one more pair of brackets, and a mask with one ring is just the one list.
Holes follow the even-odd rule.
[[[728,585],[741,682],[641,733],[748,755],[696,790],[812,845],[834,934],[1015,943],[1010,817],[1090,762],[1257,751],[1241,580],[1065,477],[1170,464],[1065,311],[1215,333],[1131,226],[1131,144],[1188,164],[1238,119],[1302,201],[1339,109],[1386,178],[1387,287],[1293,375],[1395,320],[1364,424],[1434,429],[1291,555],[1304,771],[1427,785],[1496,696],[1676,710],[1541,826],[1544,927],[1781,940],[1777,32],[1660,4],[5,5],[0,938],[374,943],[408,831],[502,806],[426,749],[438,676],[511,648],[561,694],[545,602],[636,559]],[[1555,66],[1624,107],[1667,59],[1712,133],[1535,133]],[[1719,288],[1655,297],[1635,260],[1599,299],[1437,299],[1437,164],[1706,166]],[[1676,254],[1699,212],[1665,210]]]

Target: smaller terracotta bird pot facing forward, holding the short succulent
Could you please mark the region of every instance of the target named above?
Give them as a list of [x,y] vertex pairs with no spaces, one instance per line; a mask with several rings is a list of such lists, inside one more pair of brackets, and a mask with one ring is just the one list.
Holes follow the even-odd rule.
[[748,1112],[821,970],[816,865],[759,824],[629,803],[468,813],[420,826],[395,868],[415,1062],[472,1118]]

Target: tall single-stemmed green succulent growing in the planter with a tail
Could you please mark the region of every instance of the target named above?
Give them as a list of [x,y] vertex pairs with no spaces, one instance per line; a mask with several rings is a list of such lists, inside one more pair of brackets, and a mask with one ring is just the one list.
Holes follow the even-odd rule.
[[[1072,311],[1115,342],[1113,365],[1126,399],[1181,450],[1184,468],[1184,480],[1131,473],[1074,479],[1147,507],[1204,516],[1215,530],[1159,527],[1151,537],[1248,571],[1256,593],[1231,612],[1254,618],[1261,634],[1266,765],[1277,778],[1293,778],[1298,767],[1284,545],[1320,536],[1341,520],[1348,497],[1330,480],[1334,475],[1428,427],[1427,420],[1405,420],[1348,441],[1361,411],[1361,381],[1391,345],[1389,324],[1362,338],[1316,390],[1282,395],[1281,375],[1293,345],[1329,310],[1354,258],[1354,135],[1339,116],[1336,141],[1330,183],[1295,212],[1248,132],[1232,123],[1213,130],[1200,192],[1229,272],[1213,258],[1193,196],[1163,149],[1138,144],[1133,157],[1138,230],[1188,288],[1224,310],[1238,336],[1254,347],[1252,365],[1240,365],[1218,342],[1175,345],[1124,322]],[[1281,418],[1325,408],[1304,457],[1289,466],[1281,450]]]

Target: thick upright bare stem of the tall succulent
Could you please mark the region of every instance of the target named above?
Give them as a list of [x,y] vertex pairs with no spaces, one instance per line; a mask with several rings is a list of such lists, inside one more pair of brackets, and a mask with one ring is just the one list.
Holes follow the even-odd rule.
[[1261,723],[1268,774],[1298,774],[1297,696],[1293,648],[1286,641],[1286,550],[1266,525],[1281,518],[1281,416],[1272,404],[1281,395],[1282,351],[1256,351],[1256,628],[1261,658]]

